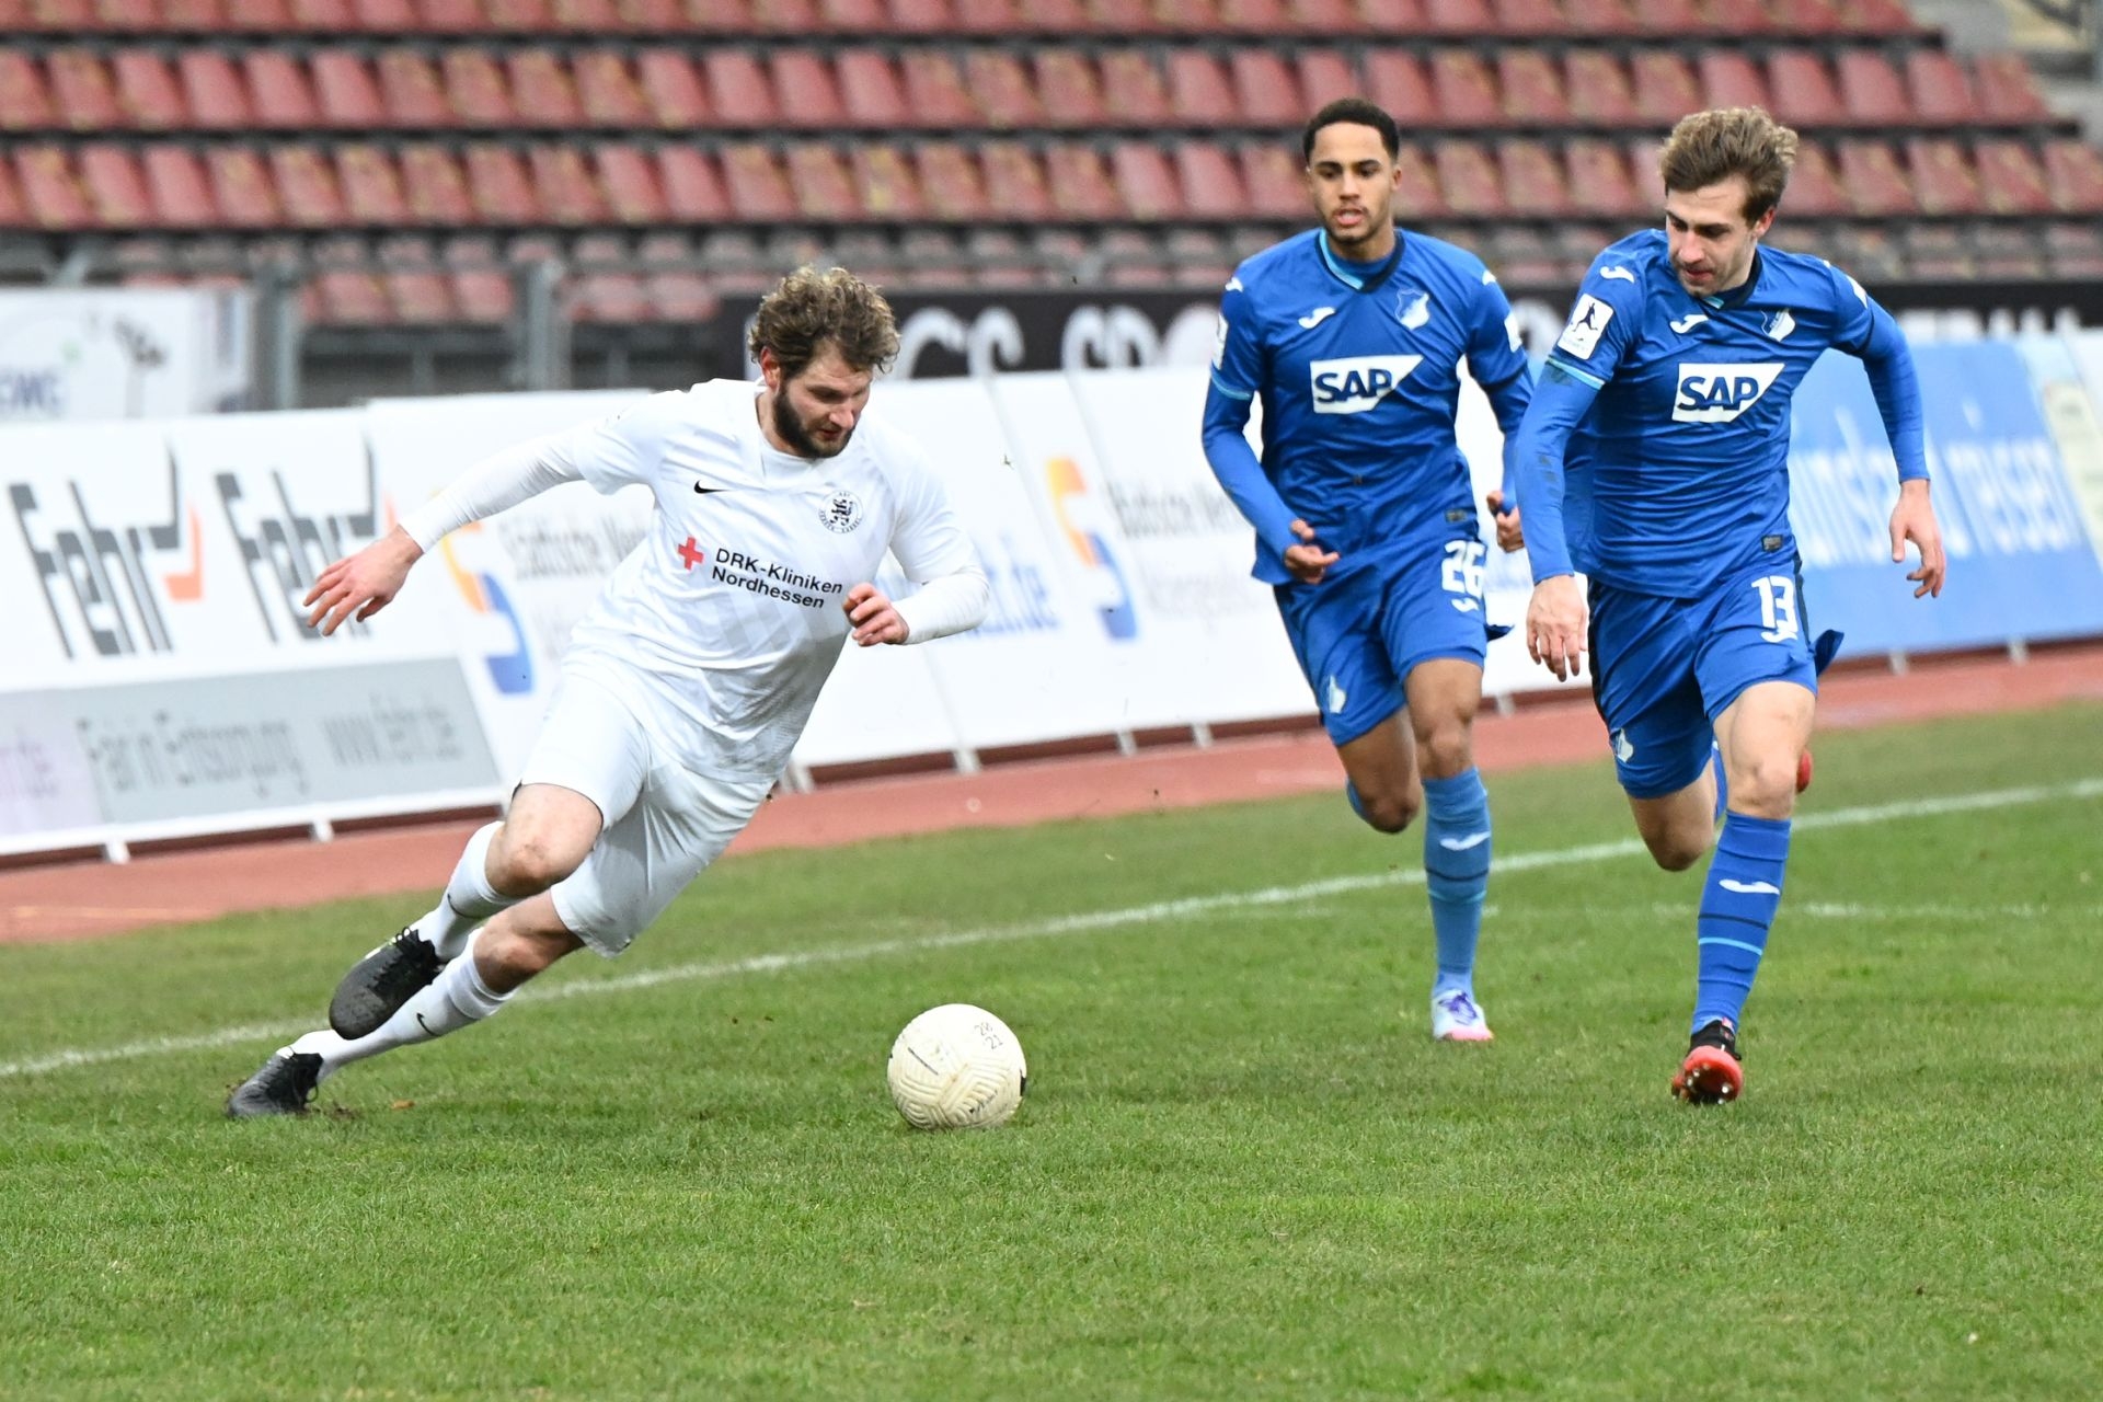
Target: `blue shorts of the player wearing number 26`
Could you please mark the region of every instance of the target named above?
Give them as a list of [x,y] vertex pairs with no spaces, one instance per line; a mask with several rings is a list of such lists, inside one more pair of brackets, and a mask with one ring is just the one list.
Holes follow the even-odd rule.
[[1403,706],[1417,662],[1483,666],[1483,553],[1476,536],[1398,551],[1321,584],[1279,584],[1279,616],[1314,689],[1331,744],[1348,744]]

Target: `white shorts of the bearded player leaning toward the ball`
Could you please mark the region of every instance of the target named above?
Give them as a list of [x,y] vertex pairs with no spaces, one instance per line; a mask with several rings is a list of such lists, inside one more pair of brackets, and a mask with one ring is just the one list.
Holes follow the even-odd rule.
[[519,784],[559,784],[599,805],[599,841],[549,895],[570,933],[608,958],[665,914],[774,788],[673,763],[620,696],[583,677],[562,679]]

